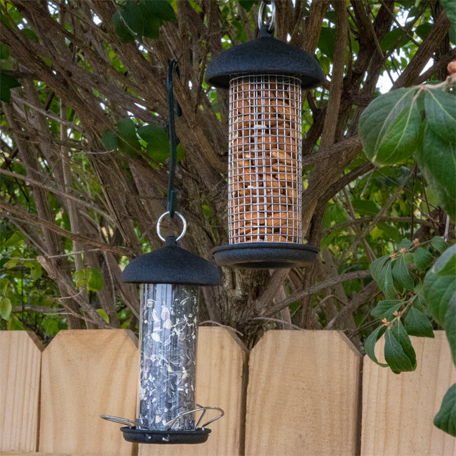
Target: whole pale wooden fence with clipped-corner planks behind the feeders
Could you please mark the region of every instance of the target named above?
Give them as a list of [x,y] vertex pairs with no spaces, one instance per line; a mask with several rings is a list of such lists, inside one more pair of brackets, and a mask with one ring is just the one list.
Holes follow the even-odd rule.
[[417,370],[394,375],[337,331],[271,330],[248,353],[229,330],[200,328],[196,400],[225,411],[200,445],[133,445],[100,419],[135,417],[136,342],[67,330],[43,350],[0,331],[0,455],[456,455],[432,424],[456,382],[441,331],[413,338]]

